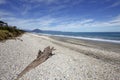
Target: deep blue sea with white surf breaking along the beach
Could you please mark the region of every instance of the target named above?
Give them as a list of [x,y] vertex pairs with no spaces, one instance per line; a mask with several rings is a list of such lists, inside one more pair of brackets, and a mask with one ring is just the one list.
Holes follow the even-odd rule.
[[120,44],[120,32],[43,32],[42,34]]

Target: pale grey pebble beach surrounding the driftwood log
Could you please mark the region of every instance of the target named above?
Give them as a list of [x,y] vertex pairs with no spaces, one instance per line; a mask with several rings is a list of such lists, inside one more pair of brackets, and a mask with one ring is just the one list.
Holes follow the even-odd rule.
[[47,46],[56,49],[55,55],[19,80],[120,80],[119,48],[114,51],[70,42],[31,33],[0,42],[0,80],[15,80],[37,57],[39,49]]

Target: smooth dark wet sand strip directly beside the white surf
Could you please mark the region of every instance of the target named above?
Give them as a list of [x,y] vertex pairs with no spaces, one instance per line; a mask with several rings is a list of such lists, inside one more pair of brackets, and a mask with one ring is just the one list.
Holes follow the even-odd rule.
[[55,35],[44,35],[44,34],[36,34],[36,35],[47,36],[54,40],[58,40],[58,41],[62,41],[62,42],[70,43],[70,44],[81,45],[81,46],[86,46],[86,47],[93,47],[93,48],[112,51],[112,52],[116,52],[116,53],[120,52],[120,49],[119,49],[120,44],[119,43],[80,39],[80,38],[73,38],[73,37],[66,37],[66,36],[55,36]]

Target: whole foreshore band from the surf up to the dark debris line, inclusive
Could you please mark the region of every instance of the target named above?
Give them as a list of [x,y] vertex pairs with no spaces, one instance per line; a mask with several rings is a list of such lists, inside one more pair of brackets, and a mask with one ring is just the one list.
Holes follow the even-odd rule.
[[[120,44],[59,36],[38,36],[48,37],[47,39],[44,37],[44,39],[50,40],[50,42],[53,44],[74,50],[95,59],[102,60],[104,62],[108,62],[112,65],[119,66],[120,64]],[[116,57],[115,54],[118,56]]]

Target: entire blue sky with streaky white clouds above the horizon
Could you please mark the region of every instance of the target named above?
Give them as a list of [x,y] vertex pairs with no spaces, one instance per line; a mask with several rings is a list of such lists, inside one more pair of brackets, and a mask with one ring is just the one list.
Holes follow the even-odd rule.
[[30,30],[120,32],[120,0],[0,0],[0,20]]

